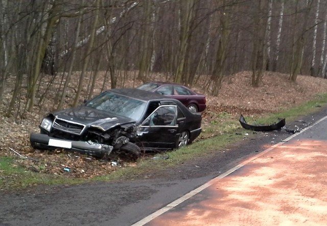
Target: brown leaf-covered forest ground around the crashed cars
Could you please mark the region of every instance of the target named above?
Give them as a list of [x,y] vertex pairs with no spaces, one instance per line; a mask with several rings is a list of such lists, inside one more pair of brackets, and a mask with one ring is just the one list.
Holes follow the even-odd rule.
[[[130,78],[133,75],[129,76]],[[72,177],[93,177],[96,175],[109,174],[117,167],[126,165],[135,165],[134,162],[126,162],[118,158],[112,161],[99,161],[93,157],[81,155],[72,152],[57,150],[55,152],[34,150],[29,144],[29,134],[38,132],[38,125],[41,118],[49,111],[54,110],[58,96],[61,77],[54,80],[53,85],[45,92],[46,82],[52,77],[44,76],[40,81],[40,88],[44,90],[44,101],[41,107],[35,107],[32,113],[28,112],[23,117],[15,116],[5,117],[4,112],[8,106],[11,94],[13,92],[14,78],[10,78],[5,91],[5,98],[0,106],[0,155],[18,156],[17,153],[27,156],[28,158],[17,158],[17,164],[23,165],[29,170],[50,174],[66,174]],[[152,80],[165,80],[165,76],[156,75]],[[267,112],[274,112],[285,107],[298,105],[314,98],[317,94],[327,93],[327,79],[314,78],[311,76],[300,75],[297,82],[293,83],[288,80],[288,75],[268,72],[263,77],[260,87],[250,86],[251,73],[241,72],[233,76],[226,77],[222,84],[218,97],[210,96],[206,89],[202,88],[207,83],[206,76],[199,76],[195,86],[192,88],[206,95],[207,109],[202,112],[202,127],[215,120],[218,114],[226,112],[235,116],[237,119],[240,114],[244,116],[260,115]],[[78,82],[78,74],[74,75],[67,93],[65,107],[73,102]],[[85,84],[89,81],[85,80]],[[125,79],[125,87],[133,87],[142,84],[141,81]],[[103,79],[98,79],[98,87],[95,95],[99,94],[103,85]],[[122,87],[122,84],[119,84]],[[105,84],[109,88],[110,84]],[[84,96],[87,87],[83,90]],[[21,96],[21,103],[24,106],[25,96]],[[144,156],[147,157],[147,156]],[[118,166],[117,166],[118,165]],[[69,169],[69,172],[65,170]]]

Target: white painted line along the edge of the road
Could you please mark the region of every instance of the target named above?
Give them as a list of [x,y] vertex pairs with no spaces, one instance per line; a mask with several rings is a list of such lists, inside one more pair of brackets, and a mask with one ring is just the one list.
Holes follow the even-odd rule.
[[154,218],[160,216],[161,214],[171,210],[172,208],[174,208],[174,207],[178,206],[179,204],[181,204],[183,201],[191,198],[192,196],[194,196],[194,195],[198,194],[199,192],[203,191],[205,188],[207,188],[207,187],[211,186],[212,184],[218,182],[218,180],[224,178],[225,176],[231,174],[232,172],[238,170],[239,168],[245,166],[246,164],[252,162],[253,160],[258,159],[260,156],[266,154],[267,152],[273,150],[274,148],[276,148],[276,147],[278,147],[280,145],[283,145],[285,142],[291,140],[292,138],[296,137],[300,133],[306,131],[307,129],[310,129],[311,127],[317,125],[318,123],[320,123],[321,121],[323,121],[325,119],[327,119],[327,116],[323,117],[322,119],[319,119],[317,122],[315,122],[311,126],[308,126],[308,127],[304,128],[304,129],[302,129],[300,132],[291,135],[290,137],[286,138],[285,140],[283,140],[283,141],[271,146],[270,148],[268,148],[268,149],[266,149],[266,150],[264,150],[264,151],[262,151],[262,152],[260,152],[260,153],[258,153],[256,155],[252,156],[250,159],[248,159],[248,160],[240,163],[239,165],[229,169],[228,171],[220,174],[219,176],[209,180],[209,182],[205,183],[204,185],[201,185],[200,187],[190,191],[189,193],[183,195],[182,197],[176,199],[175,201],[172,201],[166,207],[163,207],[163,208],[157,210],[156,212],[150,214],[149,216],[143,218],[142,220],[137,221],[136,223],[132,224],[131,226],[142,226],[142,225],[150,222],[152,219],[154,219]]

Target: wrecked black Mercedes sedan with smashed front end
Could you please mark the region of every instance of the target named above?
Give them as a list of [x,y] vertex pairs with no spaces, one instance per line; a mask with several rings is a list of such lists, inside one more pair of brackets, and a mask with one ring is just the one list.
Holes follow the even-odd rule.
[[34,148],[95,156],[177,149],[201,133],[201,115],[181,102],[135,88],[110,89],[79,107],[51,112],[30,135]]

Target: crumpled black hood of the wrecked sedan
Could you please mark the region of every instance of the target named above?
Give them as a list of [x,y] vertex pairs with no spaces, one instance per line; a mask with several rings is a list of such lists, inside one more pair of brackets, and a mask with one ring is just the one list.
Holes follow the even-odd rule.
[[53,112],[56,118],[78,122],[89,127],[97,127],[102,130],[110,129],[116,125],[135,123],[131,118],[112,115],[109,112],[87,106],[79,106]]

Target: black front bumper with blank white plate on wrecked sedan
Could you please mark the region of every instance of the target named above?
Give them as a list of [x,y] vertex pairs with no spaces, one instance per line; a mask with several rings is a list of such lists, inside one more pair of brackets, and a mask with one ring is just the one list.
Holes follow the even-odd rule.
[[113,146],[91,141],[69,141],[49,137],[47,134],[31,133],[30,143],[35,148],[64,148],[83,154],[103,156],[111,153]]

